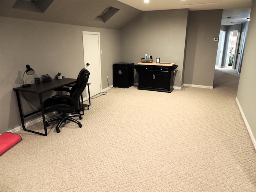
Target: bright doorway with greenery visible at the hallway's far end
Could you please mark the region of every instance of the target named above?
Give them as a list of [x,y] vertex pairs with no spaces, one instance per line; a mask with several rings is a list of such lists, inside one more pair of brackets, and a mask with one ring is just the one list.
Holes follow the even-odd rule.
[[228,41],[228,52],[227,52],[227,59],[226,59],[226,68],[228,69],[233,69],[237,38],[238,38],[238,30],[230,31],[229,41]]

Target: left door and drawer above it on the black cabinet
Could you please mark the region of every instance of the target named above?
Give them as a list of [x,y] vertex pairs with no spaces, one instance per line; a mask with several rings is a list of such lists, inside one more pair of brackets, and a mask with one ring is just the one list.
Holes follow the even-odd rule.
[[152,89],[154,86],[154,71],[152,67],[141,66],[139,74],[139,88]]

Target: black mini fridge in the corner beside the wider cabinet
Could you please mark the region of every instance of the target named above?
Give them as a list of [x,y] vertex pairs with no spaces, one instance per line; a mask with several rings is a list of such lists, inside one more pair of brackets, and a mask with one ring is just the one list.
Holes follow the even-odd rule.
[[133,63],[115,63],[113,64],[113,86],[120,88],[129,88],[133,86]]

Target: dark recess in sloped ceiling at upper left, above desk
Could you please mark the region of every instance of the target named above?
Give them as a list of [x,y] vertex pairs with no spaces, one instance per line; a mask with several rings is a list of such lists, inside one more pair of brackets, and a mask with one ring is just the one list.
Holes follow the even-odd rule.
[[12,8],[44,13],[53,0],[16,0]]

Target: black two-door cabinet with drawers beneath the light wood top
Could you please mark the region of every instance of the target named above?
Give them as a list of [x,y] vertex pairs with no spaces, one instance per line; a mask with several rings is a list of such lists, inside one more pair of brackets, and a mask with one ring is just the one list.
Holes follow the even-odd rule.
[[174,66],[137,65],[134,67],[139,73],[138,89],[161,92],[172,92]]

